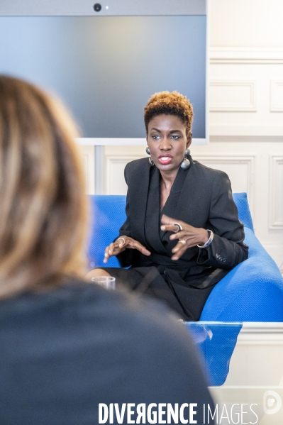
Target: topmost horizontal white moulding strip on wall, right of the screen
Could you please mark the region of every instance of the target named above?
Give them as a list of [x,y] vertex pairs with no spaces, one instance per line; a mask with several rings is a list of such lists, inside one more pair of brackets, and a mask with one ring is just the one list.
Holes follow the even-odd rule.
[[283,64],[283,48],[211,47],[211,64]]

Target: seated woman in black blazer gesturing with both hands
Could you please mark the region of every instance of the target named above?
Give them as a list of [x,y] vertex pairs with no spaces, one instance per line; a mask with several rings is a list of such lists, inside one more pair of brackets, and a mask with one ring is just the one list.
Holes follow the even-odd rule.
[[243,224],[226,173],[194,161],[193,108],[178,92],[153,94],[145,106],[147,158],[129,162],[126,222],[106,247],[121,267],[91,270],[117,286],[162,299],[179,316],[199,320],[213,287],[248,258]]

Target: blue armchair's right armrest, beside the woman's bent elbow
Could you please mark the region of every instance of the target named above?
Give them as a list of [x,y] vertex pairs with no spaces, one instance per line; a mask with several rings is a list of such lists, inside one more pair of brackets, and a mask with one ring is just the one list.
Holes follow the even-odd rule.
[[283,280],[255,233],[245,227],[248,260],[213,288],[201,321],[283,321]]

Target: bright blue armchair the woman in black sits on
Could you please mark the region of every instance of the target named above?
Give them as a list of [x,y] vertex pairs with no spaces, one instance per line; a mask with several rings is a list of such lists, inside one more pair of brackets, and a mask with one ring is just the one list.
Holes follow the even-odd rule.
[[[253,231],[245,193],[233,194],[239,218],[245,226],[248,260],[240,263],[213,288],[201,313],[201,321],[283,321],[283,279],[277,265]],[[90,268],[103,265],[104,250],[126,219],[126,197],[91,195]],[[119,267],[110,258],[109,267]]]

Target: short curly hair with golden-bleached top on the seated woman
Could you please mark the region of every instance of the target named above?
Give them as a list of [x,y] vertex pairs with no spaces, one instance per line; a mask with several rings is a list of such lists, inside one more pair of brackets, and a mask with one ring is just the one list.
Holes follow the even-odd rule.
[[186,96],[178,92],[159,92],[152,94],[145,106],[145,129],[148,134],[148,123],[157,115],[178,116],[186,126],[187,136],[192,131],[194,111]]

